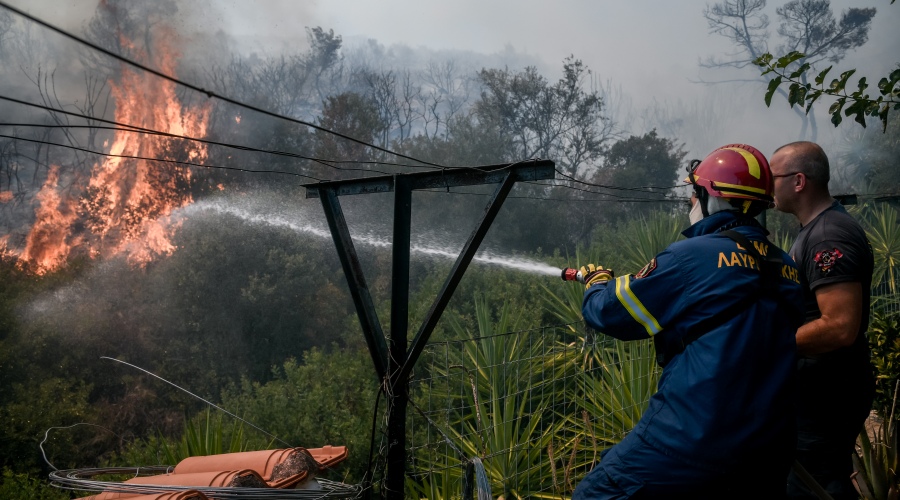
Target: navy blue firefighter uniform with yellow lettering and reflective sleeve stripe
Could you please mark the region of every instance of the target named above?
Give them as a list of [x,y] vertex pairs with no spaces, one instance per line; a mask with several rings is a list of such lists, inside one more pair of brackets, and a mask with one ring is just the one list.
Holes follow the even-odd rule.
[[[765,292],[761,266],[723,230],[741,233],[762,256],[780,254]],[[622,340],[653,337],[667,363],[640,422],[573,498],[783,495],[794,448],[794,336],[803,321],[797,267],[767,244],[755,220],[735,212],[682,234],[688,239],[639,273],[584,294],[588,325]],[[698,325],[707,331],[696,335]],[[685,338],[695,340],[684,346]],[[729,488],[736,489],[724,494]]]

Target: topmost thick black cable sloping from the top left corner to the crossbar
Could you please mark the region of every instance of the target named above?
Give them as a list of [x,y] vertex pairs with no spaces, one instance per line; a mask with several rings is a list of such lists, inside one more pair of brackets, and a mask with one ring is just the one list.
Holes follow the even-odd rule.
[[112,52],[111,50],[105,49],[105,48],[103,48],[103,47],[101,47],[101,46],[99,46],[99,45],[97,45],[97,44],[95,44],[95,43],[93,43],[93,42],[90,42],[90,41],[88,41],[88,40],[85,40],[85,39],[83,39],[83,38],[81,38],[81,37],[79,37],[79,36],[77,36],[77,35],[75,35],[75,34],[69,33],[68,31],[66,31],[66,30],[64,30],[64,29],[62,29],[62,28],[59,28],[59,27],[57,27],[57,26],[54,26],[54,25],[52,25],[52,24],[50,24],[50,23],[48,23],[48,22],[46,22],[46,21],[44,21],[44,20],[42,20],[42,19],[39,19],[39,18],[37,18],[37,17],[35,17],[35,16],[32,16],[31,14],[28,14],[27,12],[24,12],[24,11],[22,11],[22,10],[19,10],[19,9],[15,8],[15,7],[12,7],[12,6],[10,6],[9,4],[7,4],[6,2],[0,1],[0,7],[4,7],[5,9],[7,9],[7,10],[9,10],[9,11],[11,11],[11,12],[14,12],[14,13],[16,13],[16,14],[18,14],[18,15],[21,16],[21,17],[24,17],[25,19],[28,19],[28,20],[30,20],[30,21],[33,22],[33,23],[36,23],[36,24],[38,24],[38,25],[41,25],[41,26],[43,26],[43,27],[45,27],[45,28],[47,28],[47,29],[49,29],[49,30],[51,30],[51,31],[55,31],[56,33],[58,33],[58,34],[60,34],[60,35],[62,35],[62,36],[64,36],[64,37],[66,37],[66,38],[69,38],[69,39],[74,40],[74,41],[76,41],[76,42],[78,42],[78,43],[81,43],[82,45],[85,45],[85,46],[87,46],[87,47],[90,47],[90,48],[92,48],[92,49],[94,49],[94,50],[96,50],[96,51],[98,51],[98,52],[100,52],[100,53],[102,53],[102,54],[105,54],[105,55],[107,55],[107,56],[109,56],[109,57],[112,57],[112,58],[117,59],[117,60],[119,60],[119,61],[121,61],[121,62],[124,62],[125,64],[128,64],[128,65],[133,66],[133,67],[138,68],[138,69],[141,69],[141,70],[143,70],[143,71],[146,71],[147,73],[150,73],[150,74],[155,75],[155,76],[157,76],[157,77],[159,77],[159,78],[162,78],[163,80],[167,80],[167,81],[169,81],[169,82],[172,82],[172,83],[174,83],[174,84],[176,84],[176,85],[180,85],[180,86],[182,86],[182,87],[191,89],[191,90],[193,90],[193,91],[195,91],[195,92],[199,92],[199,93],[201,93],[201,94],[206,94],[206,96],[207,96],[208,98],[210,98],[210,99],[218,99],[218,100],[220,100],[220,101],[227,102],[227,103],[229,103],[229,104],[232,104],[232,105],[235,105],[235,106],[244,108],[244,109],[249,109],[249,110],[251,110],[251,111],[255,111],[255,112],[257,112],[257,113],[260,113],[260,114],[263,114],[263,115],[266,115],[266,116],[270,116],[270,117],[272,117],[272,118],[277,118],[277,119],[280,119],[280,120],[289,121],[289,122],[291,122],[291,123],[296,123],[296,124],[298,124],[298,125],[305,125],[305,126],[310,127],[310,128],[312,128],[312,129],[314,129],[314,130],[319,130],[319,131],[321,131],[321,132],[325,132],[325,133],[328,133],[328,134],[332,134],[332,135],[334,135],[334,136],[336,136],[336,137],[340,137],[340,138],[342,138],[342,139],[345,139],[345,140],[348,140],[348,141],[351,141],[351,142],[355,142],[355,143],[357,143],[357,144],[360,144],[360,145],[363,145],[363,146],[366,146],[366,147],[375,149],[375,150],[377,150],[377,151],[381,151],[381,152],[383,152],[383,153],[387,153],[387,154],[390,154],[390,155],[394,155],[394,156],[397,156],[397,157],[399,157],[399,158],[405,158],[405,159],[407,159],[407,160],[411,160],[411,161],[414,161],[414,162],[422,163],[422,164],[424,164],[424,165],[431,165],[431,166],[433,166],[433,167],[442,167],[442,166],[443,166],[443,165],[438,165],[438,164],[436,164],[436,163],[431,163],[431,162],[419,160],[419,159],[413,158],[413,157],[411,157],[411,156],[406,156],[406,155],[404,155],[404,154],[397,153],[397,152],[391,151],[391,150],[389,150],[389,149],[382,148],[382,147],[380,147],[380,146],[376,146],[376,145],[374,145],[374,144],[367,143],[367,142],[365,142],[365,141],[361,141],[361,140],[356,139],[356,138],[354,138],[354,137],[350,137],[350,136],[348,136],[348,135],[341,134],[340,132],[335,132],[335,131],[333,131],[333,130],[329,130],[329,129],[325,128],[325,127],[321,127],[321,126],[316,125],[316,124],[314,124],[314,123],[310,123],[310,122],[307,122],[307,121],[304,121],[304,120],[300,120],[300,119],[297,119],[297,118],[292,118],[292,117],[289,117],[289,116],[285,116],[285,115],[282,115],[282,114],[279,114],[279,113],[275,113],[274,111],[269,111],[269,110],[266,110],[266,109],[263,109],[263,108],[259,108],[259,107],[257,107],[257,106],[252,106],[252,105],[250,105],[250,104],[243,103],[243,102],[241,102],[241,101],[238,101],[238,100],[236,100],[236,99],[232,99],[232,98],[227,97],[227,96],[224,96],[224,95],[216,94],[215,92],[213,92],[213,91],[211,91],[211,90],[204,89],[204,88],[202,88],[202,87],[199,87],[199,86],[197,86],[197,85],[194,85],[194,84],[185,82],[185,81],[183,81],[183,80],[179,80],[178,78],[175,78],[175,77],[173,77],[173,76],[171,76],[171,75],[167,75],[167,74],[165,74],[165,73],[163,73],[163,72],[161,72],[161,71],[159,71],[159,70],[153,69],[153,68],[151,68],[151,67],[149,67],[149,66],[143,65],[143,64],[138,63],[138,62],[136,62],[136,61],[132,61],[131,59],[128,59],[127,57],[122,56],[122,55],[120,55],[120,54],[116,54],[115,52]]

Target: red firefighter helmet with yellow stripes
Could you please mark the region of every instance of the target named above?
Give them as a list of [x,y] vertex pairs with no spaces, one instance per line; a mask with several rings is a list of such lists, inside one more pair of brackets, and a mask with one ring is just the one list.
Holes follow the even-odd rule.
[[766,202],[775,189],[768,160],[746,144],[728,144],[694,160],[684,182],[704,187],[710,196]]

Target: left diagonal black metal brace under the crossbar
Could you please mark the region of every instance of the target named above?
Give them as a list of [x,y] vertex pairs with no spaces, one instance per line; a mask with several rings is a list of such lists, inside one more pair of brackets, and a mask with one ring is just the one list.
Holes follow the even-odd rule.
[[372,295],[366,285],[359,256],[353,247],[353,239],[347,229],[347,220],[341,210],[341,203],[333,189],[325,189],[322,193],[324,194],[321,197],[322,209],[325,211],[328,228],[331,229],[331,238],[334,240],[341,267],[344,269],[344,276],[347,278],[347,286],[350,288],[350,296],[356,307],[356,315],[359,317],[359,324],[366,338],[366,344],[369,346],[369,354],[372,356],[378,378],[384,380],[384,376],[387,374],[388,351],[381,323],[375,313],[375,304],[372,302]]

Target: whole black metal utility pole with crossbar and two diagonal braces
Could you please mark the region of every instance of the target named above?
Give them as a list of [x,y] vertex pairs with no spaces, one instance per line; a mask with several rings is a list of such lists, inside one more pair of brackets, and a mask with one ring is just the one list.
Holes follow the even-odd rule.
[[[549,160],[528,160],[513,164],[470,168],[444,168],[429,172],[383,175],[362,179],[306,184],[307,198],[319,198],[328,220],[328,228],[347,278],[350,296],[366,338],[375,371],[389,385],[388,456],[385,496],[402,499],[406,476],[406,407],[409,403],[409,376],[431,333],[450,302],[463,274],[500,212],[503,202],[516,182],[553,179],[556,168]],[[422,326],[407,346],[409,330],[409,259],[412,192],[459,186],[498,184],[435,298]],[[339,196],[394,192],[394,233],[391,247],[391,338],[384,335],[375,305],[369,293],[359,256],[341,210]]]

